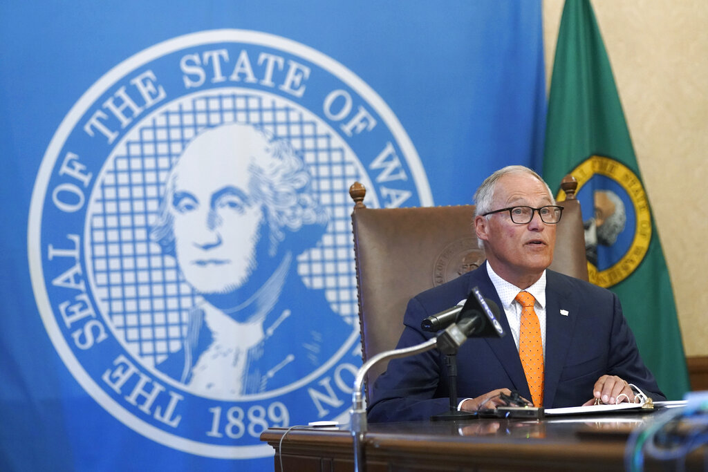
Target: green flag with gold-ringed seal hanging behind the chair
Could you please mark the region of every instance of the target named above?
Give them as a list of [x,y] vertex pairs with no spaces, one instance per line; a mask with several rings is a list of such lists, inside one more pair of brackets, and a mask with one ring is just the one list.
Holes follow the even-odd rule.
[[590,281],[619,296],[647,367],[668,398],[683,398],[666,261],[589,0],[566,0],[553,64],[543,175],[553,188],[567,173],[578,180]]

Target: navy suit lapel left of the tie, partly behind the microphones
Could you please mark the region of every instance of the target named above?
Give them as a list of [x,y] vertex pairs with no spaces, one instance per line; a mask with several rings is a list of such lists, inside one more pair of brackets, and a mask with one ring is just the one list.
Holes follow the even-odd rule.
[[479,273],[479,277],[473,277],[469,280],[469,290],[471,291],[475,286],[479,287],[479,291],[484,297],[492,299],[494,303],[497,304],[500,311],[498,320],[505,333],[503,338],[484,338],[484,340],[494,352],[497,359],[499,359],[503,369],[511,379],[513,384],[512,388],[518,391],[524,398],[531,398],[524,369],[521,365],[521,359],[519,358],[519,351],[509,329],[509,321],[506,319],[506,313],[504,312],[499,295],[496,293],[494,284],[492,284],[489,279],[486,263],[479,267],[476,272]]

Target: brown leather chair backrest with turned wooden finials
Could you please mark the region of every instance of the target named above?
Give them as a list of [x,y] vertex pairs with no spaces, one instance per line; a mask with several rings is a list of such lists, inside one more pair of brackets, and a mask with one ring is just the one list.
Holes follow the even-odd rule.
[[[588,280],[577,183],[566,177],[561,188],[566,200],[558,203],[564,212],[550,268]],[[409,299],[479,267],[485,259],[474,234],[474,205],[373,209],[364,205],[365,193],[358,182],[349,189],[355,202],[352,224],[364,362],[396,347]],[[386,365],[382,362],[368,372],[367,397]]]

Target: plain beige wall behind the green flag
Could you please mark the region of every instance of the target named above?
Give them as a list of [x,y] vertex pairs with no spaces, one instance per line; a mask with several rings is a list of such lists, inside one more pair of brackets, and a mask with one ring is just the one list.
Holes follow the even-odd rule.
[[[544,0],[550,82],[564,0]],[[661,236],[686,355],[708,355],[708,1],[593,0]]]

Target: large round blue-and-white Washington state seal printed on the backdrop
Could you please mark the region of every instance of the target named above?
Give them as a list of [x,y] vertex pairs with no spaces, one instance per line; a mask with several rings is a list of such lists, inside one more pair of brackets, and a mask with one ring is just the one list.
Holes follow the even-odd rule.
[[47,333],[105,410],[166,446],[268,456],[346,420],[360,365],[350,183],[432,205],[409,137],[353,72],[247,30],[162,42],[64,118],[35,182]]

